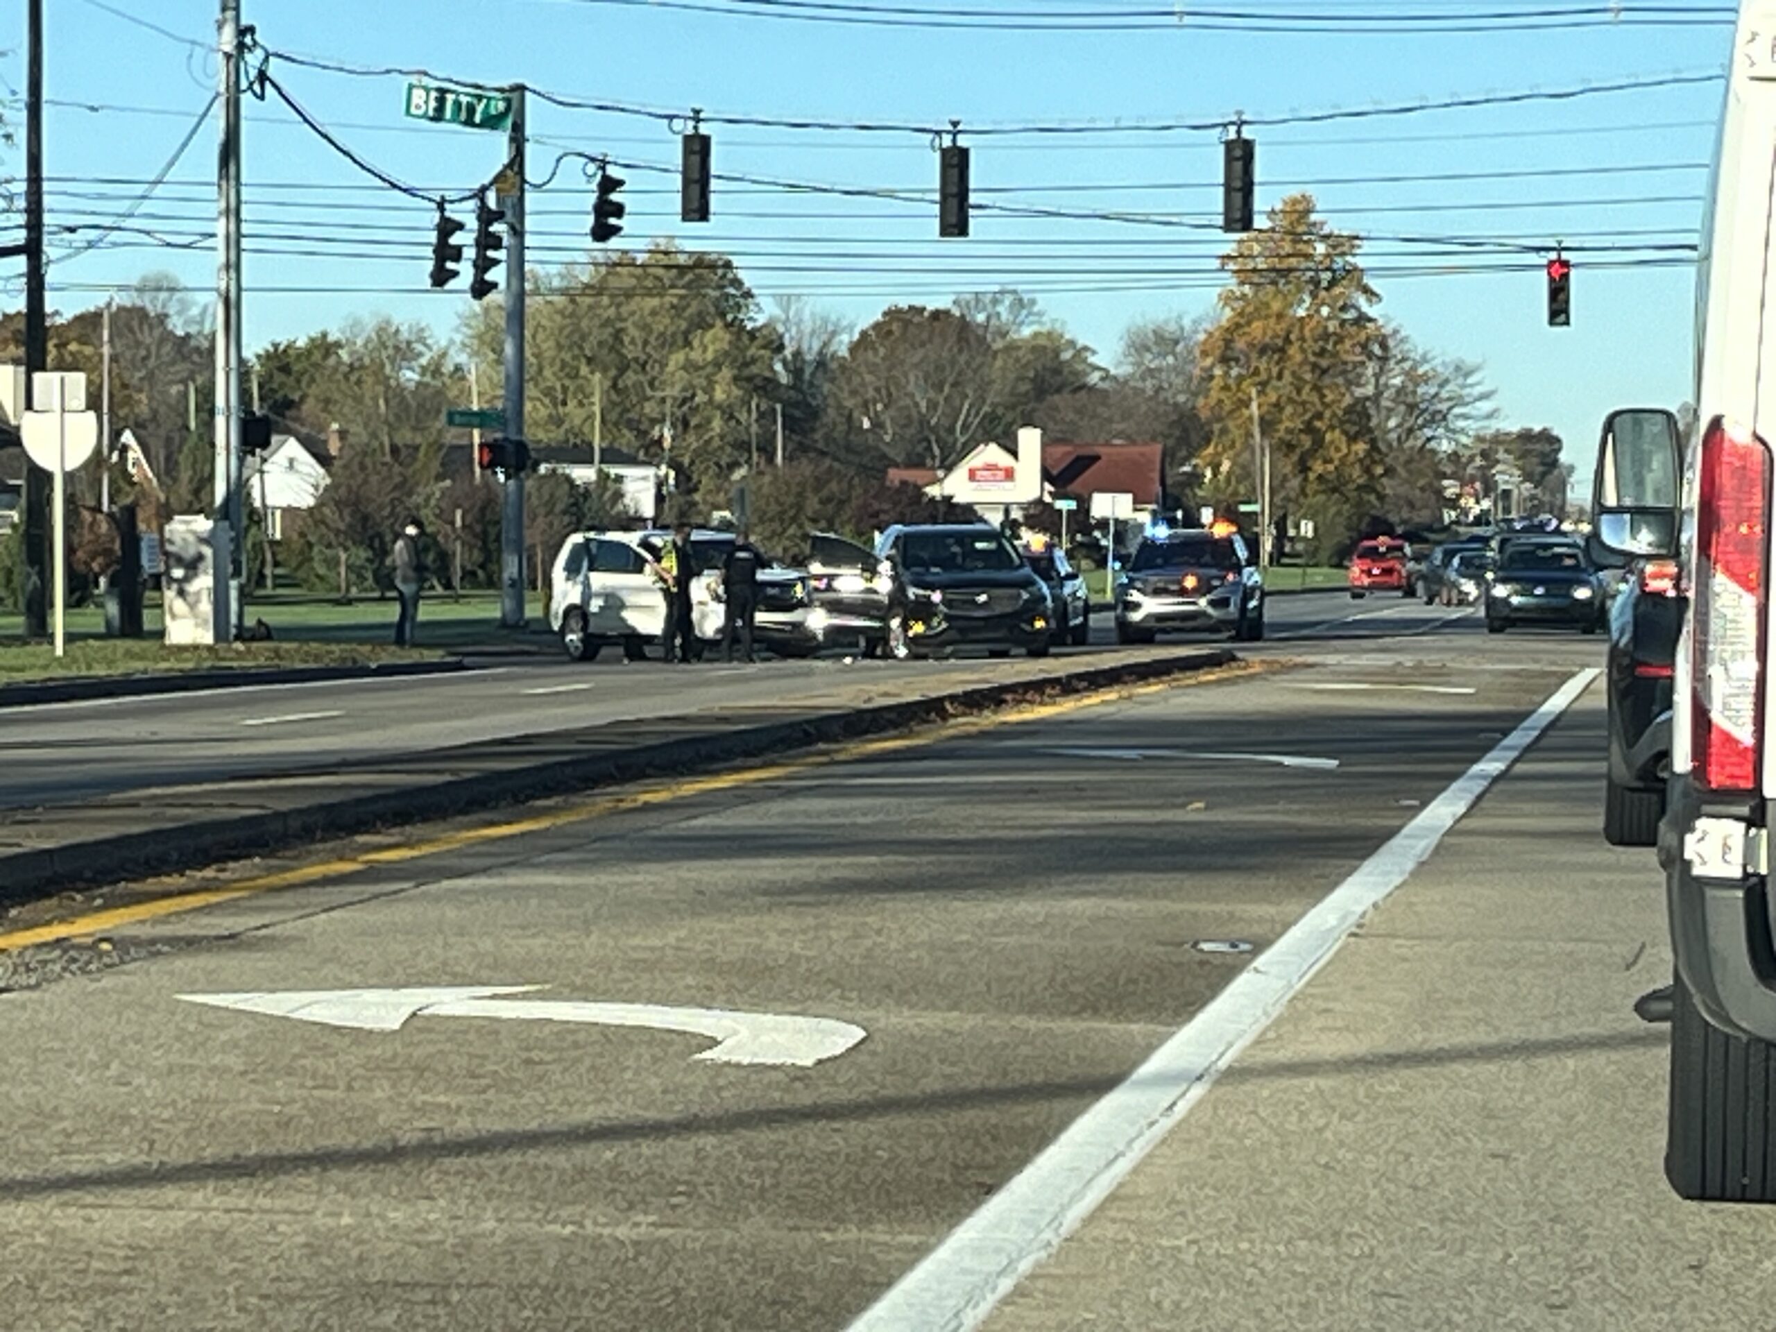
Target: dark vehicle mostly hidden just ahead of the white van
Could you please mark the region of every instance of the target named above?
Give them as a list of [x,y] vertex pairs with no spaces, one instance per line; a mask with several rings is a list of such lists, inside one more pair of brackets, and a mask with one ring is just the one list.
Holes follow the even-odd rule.
[[1675,559],[1637,559],[1609,607],[1609,773],[1604,840],[1650,847],[1659,840],[1671,776],[1671,677],[1684,629]]

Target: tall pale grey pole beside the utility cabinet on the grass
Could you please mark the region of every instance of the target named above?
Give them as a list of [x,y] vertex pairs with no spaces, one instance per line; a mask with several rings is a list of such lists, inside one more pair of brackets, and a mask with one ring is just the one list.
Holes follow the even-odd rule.
[[217,401],[211,487],[213,616],[217,643],[234,639],[240,606],[240,0],[222,0],[217,23],[222,144],[217,156]]

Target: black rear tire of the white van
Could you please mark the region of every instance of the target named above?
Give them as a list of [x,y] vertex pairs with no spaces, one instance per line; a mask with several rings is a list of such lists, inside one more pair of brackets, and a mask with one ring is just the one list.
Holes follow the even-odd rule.
[[1719,1030],[1678,977],[1666,1179],[1693,1202],[1776,1202],[1776,1046]]

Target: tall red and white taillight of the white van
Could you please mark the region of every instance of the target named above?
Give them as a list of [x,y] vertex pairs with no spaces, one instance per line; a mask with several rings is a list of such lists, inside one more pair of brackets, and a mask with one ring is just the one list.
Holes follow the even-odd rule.
[[1764,732],[1769,446],[1716,417],[1696,508],[1691,746],[1710,790],[1756,790]]

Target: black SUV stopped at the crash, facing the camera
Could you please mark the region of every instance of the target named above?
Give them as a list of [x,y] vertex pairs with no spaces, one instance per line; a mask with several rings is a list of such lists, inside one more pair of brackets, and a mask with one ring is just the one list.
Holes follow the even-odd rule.
[[998,527],[893,526],[876,554],[888,565],[884,650],[922,657],[986,648],[1005,657],[1051,646],[1048,588]]

